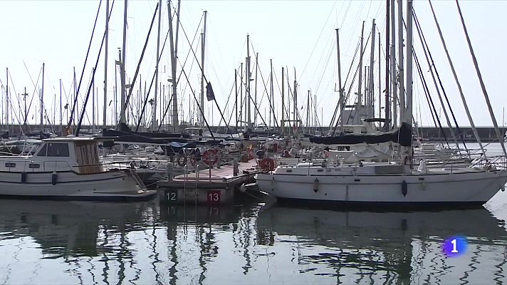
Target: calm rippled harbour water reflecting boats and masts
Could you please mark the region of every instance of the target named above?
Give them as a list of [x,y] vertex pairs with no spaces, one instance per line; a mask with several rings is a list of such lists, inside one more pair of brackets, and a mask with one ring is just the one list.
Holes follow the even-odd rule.
[[506,220],[507,192],[439,212],[0,199],[0,283],[503,284]]

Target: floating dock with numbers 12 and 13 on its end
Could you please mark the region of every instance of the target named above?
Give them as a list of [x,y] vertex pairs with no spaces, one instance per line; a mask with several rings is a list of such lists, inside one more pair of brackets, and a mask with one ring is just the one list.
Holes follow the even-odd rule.
[[184,175],[157,182],[160,202],[169,204],[233,204],[234,192],[244,183],[254,180],[256,160],[234,162],[203,170],[197,169]]

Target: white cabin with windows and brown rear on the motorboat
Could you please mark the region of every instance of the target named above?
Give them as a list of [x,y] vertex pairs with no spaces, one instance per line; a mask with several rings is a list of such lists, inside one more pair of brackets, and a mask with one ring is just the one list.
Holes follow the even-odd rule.
[[50,138],[43,140],[33,155],[0,157],[0,171],[52,172],[68,170],[80,174],[103,171],[95,138]]

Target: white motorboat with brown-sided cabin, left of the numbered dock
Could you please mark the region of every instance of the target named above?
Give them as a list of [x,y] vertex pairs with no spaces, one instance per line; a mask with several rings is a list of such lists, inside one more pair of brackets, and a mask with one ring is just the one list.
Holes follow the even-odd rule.
[[36,199],[143,199],[135,170],[105,170],[95,138],[43,140],[28,156],[0,157],[0,196]]

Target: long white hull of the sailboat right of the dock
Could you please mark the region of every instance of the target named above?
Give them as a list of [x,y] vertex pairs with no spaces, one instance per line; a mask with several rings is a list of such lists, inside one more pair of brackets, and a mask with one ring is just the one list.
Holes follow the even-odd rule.
[[404,175],[258,174],[256,180],[260,190],[282,199],[378,204],[482,204],[504,187],[507,172],[470,170]]

